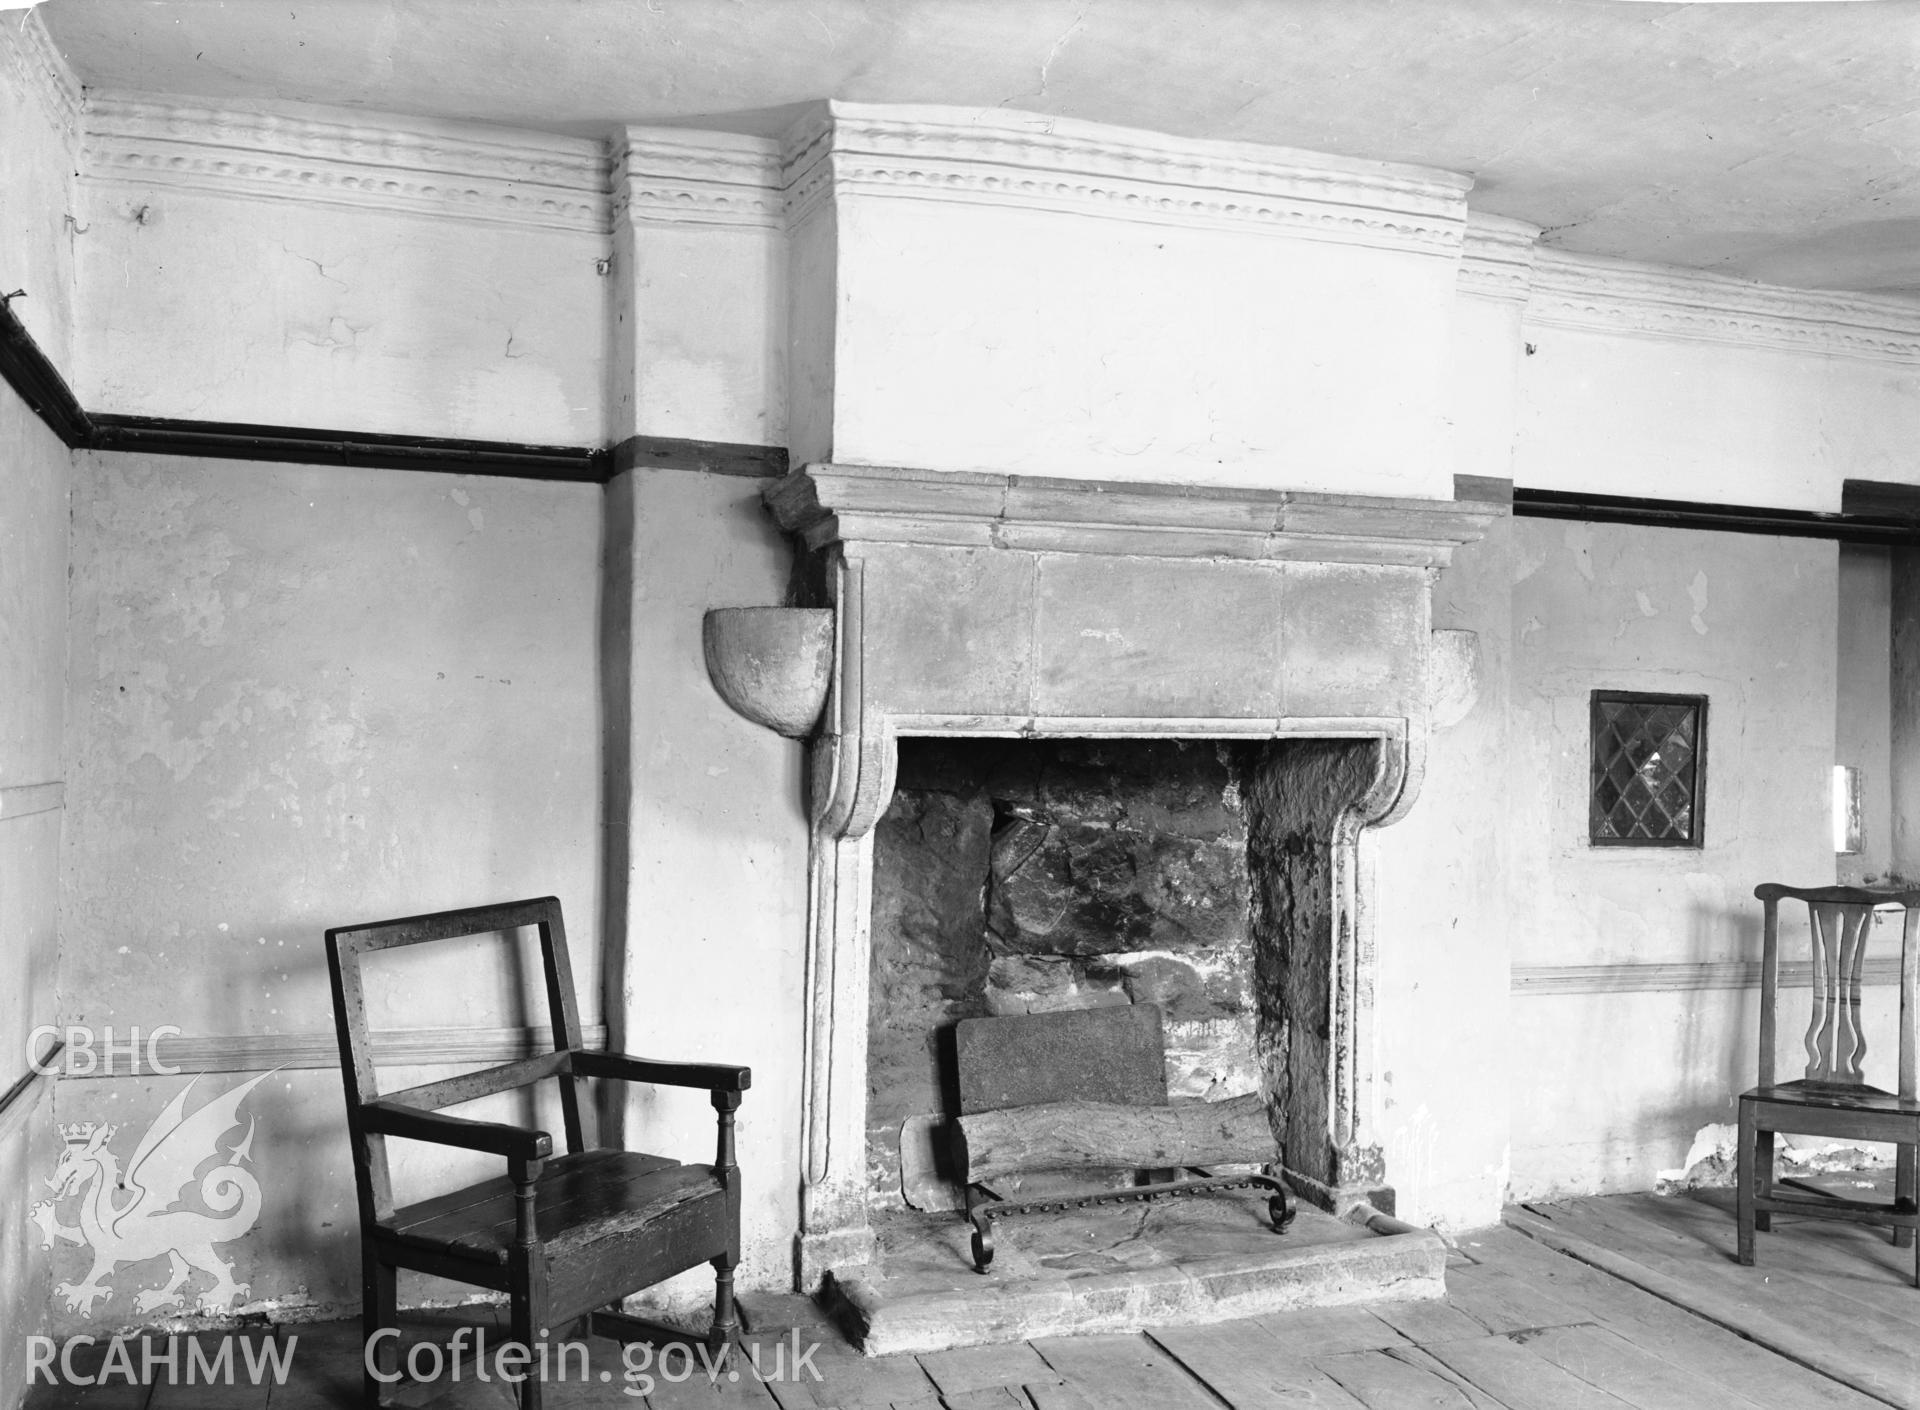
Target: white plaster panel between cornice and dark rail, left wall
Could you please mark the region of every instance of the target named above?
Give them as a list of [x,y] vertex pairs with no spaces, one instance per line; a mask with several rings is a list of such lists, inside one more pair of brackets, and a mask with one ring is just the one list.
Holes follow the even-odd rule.
[[94,177],[90,411],[532,444],[605,438],[607,236]]

